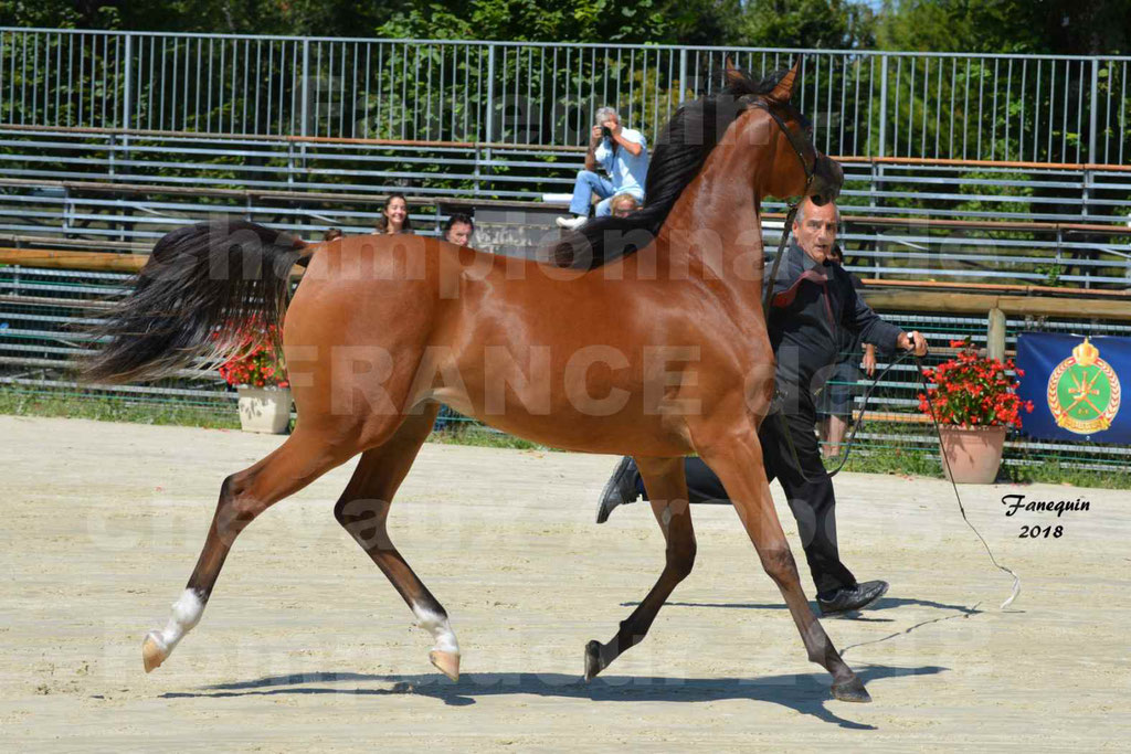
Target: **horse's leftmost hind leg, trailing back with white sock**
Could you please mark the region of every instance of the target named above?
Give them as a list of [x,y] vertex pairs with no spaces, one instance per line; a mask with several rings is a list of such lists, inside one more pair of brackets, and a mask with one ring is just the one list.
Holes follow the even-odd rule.
[[305,487],[356,452],[352,444],[338,440],[338,436],[304,431],[300,423],[295,433],[273,453],[224,479],[216,513],[192,577],[180,599],[173,604],[173,614],[164,630],[150,631],[141,645],[146,673],[164,662],[184,634],[199,623],[236,536],[273,504]]

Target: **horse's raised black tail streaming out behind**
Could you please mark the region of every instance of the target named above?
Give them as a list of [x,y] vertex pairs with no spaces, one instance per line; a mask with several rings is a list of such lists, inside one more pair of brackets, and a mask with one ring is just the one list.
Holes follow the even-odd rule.
[[83,365],[90,382],[167,375],[204,357],[216,364],[248,327],[280,324],[302,241],[242,220],[198,223],[163,236],[133,291],[93,328],[109,343]]

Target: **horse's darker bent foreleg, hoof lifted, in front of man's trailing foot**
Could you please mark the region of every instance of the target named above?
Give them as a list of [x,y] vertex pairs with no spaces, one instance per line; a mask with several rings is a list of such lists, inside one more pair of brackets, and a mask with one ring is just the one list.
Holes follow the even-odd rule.
[[590,681],[622,652],[640,643],[664,601],[683,581],[696,562],[696,532],[691,527],[688,484],[682,458],[638,458],[637,467],[651,500],[651,511],[667,543],[659,580],[632,615],[621,622],[607,644],[590,641],[585,647],[585,679]]

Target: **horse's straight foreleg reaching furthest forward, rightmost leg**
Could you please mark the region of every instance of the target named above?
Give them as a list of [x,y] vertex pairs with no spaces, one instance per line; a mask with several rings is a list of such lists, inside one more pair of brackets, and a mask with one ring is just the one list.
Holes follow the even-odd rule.
[[863,682],[840,659],[832,640],[824,633],[805,599],[797,575],[797,564],[782,530],[777,511],[774,510],[758,435],[751,431],[737,437],[725,437],[699,450],[703,461],[723,482],[754,549],[758,551],[762,567],[782,591],[801,632],[809,659],[832,674],[832,694],[846,702],[871,701]]

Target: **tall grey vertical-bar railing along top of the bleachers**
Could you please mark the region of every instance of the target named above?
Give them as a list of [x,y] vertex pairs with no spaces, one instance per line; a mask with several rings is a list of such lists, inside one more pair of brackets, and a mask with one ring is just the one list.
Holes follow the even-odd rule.
[[0,124],[577,146],[596,107],[655,140],[726,60],[801,55],[831,155],[1121,164],[1128,62],[671,45],[0,28]]

